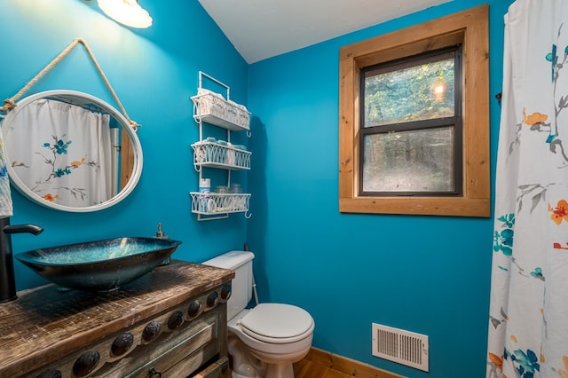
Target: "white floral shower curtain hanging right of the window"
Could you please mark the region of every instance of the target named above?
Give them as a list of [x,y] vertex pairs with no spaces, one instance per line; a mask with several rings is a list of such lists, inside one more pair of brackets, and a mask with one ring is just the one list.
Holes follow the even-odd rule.
[[505,16],[487,377],[568,377],[568,1]]

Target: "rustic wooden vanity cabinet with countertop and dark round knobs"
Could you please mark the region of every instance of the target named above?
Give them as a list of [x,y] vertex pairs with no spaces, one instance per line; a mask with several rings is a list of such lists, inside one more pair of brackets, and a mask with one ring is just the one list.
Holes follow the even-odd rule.
[[0,376],[228,377],[233,277],[172,260],[109,293],[22,291],[0,304]]

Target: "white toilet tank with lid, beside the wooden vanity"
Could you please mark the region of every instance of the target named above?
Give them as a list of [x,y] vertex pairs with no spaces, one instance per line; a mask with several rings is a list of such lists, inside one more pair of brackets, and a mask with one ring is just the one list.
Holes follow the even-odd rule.
[[227,301],[227,319],[233,317],[247,307],[252,298],[252,259],[255,255],[248,251],[231,251],[214,257],[202,264],[231,269],[233,279],[231,297]]

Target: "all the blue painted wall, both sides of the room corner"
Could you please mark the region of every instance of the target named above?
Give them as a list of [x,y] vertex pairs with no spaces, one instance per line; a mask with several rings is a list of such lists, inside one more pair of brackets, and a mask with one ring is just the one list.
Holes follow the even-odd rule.
[[[261,301],[295,303],[316,321],[313,345],[410,377],[477,378],[485,343],[493,221],[340,214],[338,53],[341,46],[490,4],[492,179],[501,91],[502,17],[512,0],[454,0],[373,28],[248,66],[196,1],[142,1],[154,25],[122,28],[83,0],[5,2],[0,97],[10,98],[77,36],[91,45],[130,117],[145,166],[138,187],[97,213],[62,213],[12,192],[16,251],[117,235],[154,235],[162,222],[184,244],[174,257],[202,261],[246,240],[256,253]],[[95,2],[91,2],[95,3]],[[89,91],[112,103],[82,47],[32,88]],[[189,97],[197,72],[232,88],[255,114],[248,186],[253,217],[198,223],[189,145],[198,138]],[[240,138],[240,137],[237,137]],[[244,179],[244,177],[243,177]],[[42,280],[16,264],[19,288]],[[371,356],[371,323],[430,335],[430,374]]]

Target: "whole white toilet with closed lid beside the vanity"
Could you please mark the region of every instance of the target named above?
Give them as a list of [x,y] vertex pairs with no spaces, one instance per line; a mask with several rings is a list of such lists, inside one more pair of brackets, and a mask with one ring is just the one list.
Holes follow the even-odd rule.
[[258,303],[245,309],[252,298],[254,278],[248,251],[231,251],[203,264],[235,272],[227,302],[228,349],[233,378],[293,378],[292,364],[312,347],[314,322],[299,307],[284,303]]

